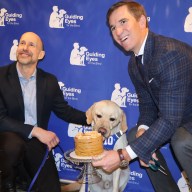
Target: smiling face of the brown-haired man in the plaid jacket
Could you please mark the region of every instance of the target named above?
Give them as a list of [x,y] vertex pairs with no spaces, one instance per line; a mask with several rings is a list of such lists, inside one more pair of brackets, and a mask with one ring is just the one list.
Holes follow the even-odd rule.
[[143,42],[143,17],[137,21],[124,5],[114,10],[109,25],[114,40],[126,51],[138,53]]

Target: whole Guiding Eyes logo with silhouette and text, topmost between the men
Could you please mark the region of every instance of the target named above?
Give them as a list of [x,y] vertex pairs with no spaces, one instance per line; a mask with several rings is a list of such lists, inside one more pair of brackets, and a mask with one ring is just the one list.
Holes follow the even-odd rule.
[[52,7],[52,13],[49,17],[50,28],[65,28],[67,27],[80,27],[79,21],[83,21],[83,16],[77,14],[67,14],[64,9],[59,9],[58,6]]

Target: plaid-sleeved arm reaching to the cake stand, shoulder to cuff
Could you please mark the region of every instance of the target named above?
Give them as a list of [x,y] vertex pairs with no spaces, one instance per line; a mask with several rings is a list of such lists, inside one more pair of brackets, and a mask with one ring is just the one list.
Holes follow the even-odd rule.
[[149,162],[151,153],[167,142],[181,124],[191,82],[188,57],[173,51],[164,54],[158,62],[167,63],[158,77],[158,80],[161,79],[160,85],[155,78],[153,80],[153,86],[159,86],[159,90],[153,92],[158,100],[158,118],[142,136],[130,143],[133,151],[145,163]]

